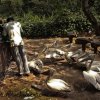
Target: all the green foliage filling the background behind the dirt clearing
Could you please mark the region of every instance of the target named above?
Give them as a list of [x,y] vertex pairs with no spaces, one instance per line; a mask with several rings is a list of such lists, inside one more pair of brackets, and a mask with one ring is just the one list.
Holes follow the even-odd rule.
[[[93,13],[100,21],[100,3],[95,1]],[[15,16],[22,23],[22,35],[26,37],[65,36],[68,31],[92,30],[80,0],[4,0],[1,3],[1,16]]]

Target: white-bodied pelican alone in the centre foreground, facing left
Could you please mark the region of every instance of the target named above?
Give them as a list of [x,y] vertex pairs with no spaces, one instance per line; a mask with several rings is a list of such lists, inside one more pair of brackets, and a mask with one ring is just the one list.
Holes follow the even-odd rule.
[[66,83],[62,79],[56,79],[56,78],[51,78],[55,71],[51,70],[49,76],[46,79],[46,85],[49,90],[51,91],[59,91],[59,92],[70,92],[71,91],[71,86]]

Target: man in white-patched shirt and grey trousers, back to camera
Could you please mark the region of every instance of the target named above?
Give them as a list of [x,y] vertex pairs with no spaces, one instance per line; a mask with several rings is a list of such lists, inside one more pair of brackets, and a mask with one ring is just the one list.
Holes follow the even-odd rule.
[[4,35],[8,34],[11,52],[18,66],[18,76],[30,75],[30,70],[27,63],[27,57],[24,50],[24,42],[21,37],[23,32],[21,24],[16,22],[13,17],[7,18],[7,23],[4,25]]

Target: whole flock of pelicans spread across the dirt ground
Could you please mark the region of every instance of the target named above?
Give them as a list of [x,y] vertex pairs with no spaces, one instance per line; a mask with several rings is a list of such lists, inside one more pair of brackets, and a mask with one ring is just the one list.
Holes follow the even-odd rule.
[[[63,50],[64,47],[67,49],[66,51]],[[90,48],[90,44],[87,45],[87,47]],[[83,52],[82,49],[80,49],[80,46],[75,47],[74,44],[61,47],[57,41],[55,41],[51,47],[46,47],[44,51],[46,59],[57,59],[65,57],[65,59],[70,63],[84,63],[87,68],[87,70],[83,71],[84,78],[96,89],[100,90],[100,63],[99,61],[94,61],[95,54],[91,52]],[[35,68],[37,70],[41,70],[44,66],[40,59],[30,61],[28,65],[29,67]],[[71,91],[71,86],[67,82],[62,79],[51,78],[51,76],[52,75],[50,74],[45,81],[45,85],[48,89],[59,92]]]

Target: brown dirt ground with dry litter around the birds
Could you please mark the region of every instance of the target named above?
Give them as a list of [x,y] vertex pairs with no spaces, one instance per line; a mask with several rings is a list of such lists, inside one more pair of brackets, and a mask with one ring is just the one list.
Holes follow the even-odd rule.
[[[49,46],[55,40],[59,41],[59,45],[63,46],[67,44],[66,38],[24,39],[28,60],[34,58],[34,52],[40,53],[44,48],[44,45]],[[34,96],[34,99],[32,100],[100,100],[99,91],[83,77],[82,71],[85,69],[73,65],[69,66],[65,59],[50,61],[44,59],[43,55],[39,58],[43,61],[44,66],[56,69],[56,73],[53,77],[61,78],[70,84],[73,89],[72,92],[64,97],[50,92],[44,94],[39,90],[31,88],[32,83],[42,84],[42,81],[46,79],[47,75],[33,73],[30,77],[16,77],[14,76],[14,73],[17,71],[17,67],[15,66],[15,63],[12,62],[11,66],[8,68],[9,70],[6,72],[5,78],[1,77],[0,100],[7,100],[7,97],[10,100],[23,100],[28,93]],[[18,99],[18,96],[20,99]]]

